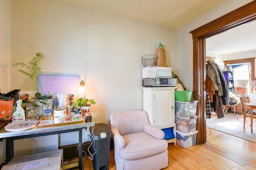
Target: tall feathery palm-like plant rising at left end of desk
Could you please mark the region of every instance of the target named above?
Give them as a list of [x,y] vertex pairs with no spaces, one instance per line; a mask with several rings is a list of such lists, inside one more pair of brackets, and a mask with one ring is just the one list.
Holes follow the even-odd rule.
[[33,57],[30,62],[28,62],[28,64],[26,63],[15,63],[12,66],[22,66],[27,68],[28,71],[26,70],[18,70],[19,72],[28,75],[31,79],[32,82],[34,84],[35,90],[36,92],[39,92],[38,89],[38,74],[41,74],[41,66],[40,63],[41,61],[44,59],[44,54],[42,53],[36,53],[36,57]]

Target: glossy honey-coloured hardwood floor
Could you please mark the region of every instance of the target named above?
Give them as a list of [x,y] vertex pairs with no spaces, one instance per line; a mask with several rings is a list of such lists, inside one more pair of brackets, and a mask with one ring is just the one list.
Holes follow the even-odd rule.
[[[210,134],[211,132],[211,134]],[[170,143],[170,164],[162,170],[255,170],[256,143],[207,128],[207,142],[186,149]],[[85,170],[93,170],[84,159]],[[114,150],[110,150],[109,170],[116,170]]]

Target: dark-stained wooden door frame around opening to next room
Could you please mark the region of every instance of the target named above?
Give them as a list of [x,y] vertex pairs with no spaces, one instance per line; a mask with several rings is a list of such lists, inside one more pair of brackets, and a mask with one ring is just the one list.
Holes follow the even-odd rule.
[[198,100],[197,145],[206,143],[206,38],[256,20],[256,0],[193,31],[193,99]]

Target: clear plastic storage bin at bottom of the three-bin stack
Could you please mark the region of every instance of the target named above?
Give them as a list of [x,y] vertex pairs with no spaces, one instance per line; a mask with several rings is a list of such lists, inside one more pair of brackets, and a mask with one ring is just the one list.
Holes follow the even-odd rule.
[[177,144],[182,148],[188,148],[196,145],[196,136],[198,131],[182,133],[177,131]]

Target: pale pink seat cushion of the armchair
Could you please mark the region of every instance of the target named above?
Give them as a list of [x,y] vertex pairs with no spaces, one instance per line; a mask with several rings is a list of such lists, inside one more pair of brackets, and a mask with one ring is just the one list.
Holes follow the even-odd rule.
[[124,160],[158,154],[168,148],[166,140],[156,139],[145,132],[131,133],[122,137],[126,142],[126,146],[119,150],[119,156]]

